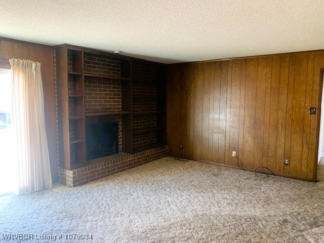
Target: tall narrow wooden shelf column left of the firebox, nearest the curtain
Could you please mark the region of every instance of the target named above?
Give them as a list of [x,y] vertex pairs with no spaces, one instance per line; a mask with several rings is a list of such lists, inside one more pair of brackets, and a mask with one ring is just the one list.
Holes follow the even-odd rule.
[[[83,51],[66,45],[55,47],[55,51],[58,103],[62,104],[58,109],[60,167],[70,170],[86,161]],[[71,133],[73,137],[69,137]]]

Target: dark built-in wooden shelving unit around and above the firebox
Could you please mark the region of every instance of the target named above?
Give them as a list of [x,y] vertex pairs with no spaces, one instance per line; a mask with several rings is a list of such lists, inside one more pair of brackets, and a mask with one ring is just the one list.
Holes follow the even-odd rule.
[[62,168],[87,164],[88,119],[120,117],[126,153],[166,144],[163,64],[65,44],[55,51]]

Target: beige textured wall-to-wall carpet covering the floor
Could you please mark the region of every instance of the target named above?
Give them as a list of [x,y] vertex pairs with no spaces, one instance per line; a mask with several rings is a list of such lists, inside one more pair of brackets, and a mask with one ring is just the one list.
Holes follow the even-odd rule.
[[[9,233],[34,240],[5,240]],[[324,242],[324,182],[166,157],[84,186],[0,198],[0,242],[54,235],[55,242]]]

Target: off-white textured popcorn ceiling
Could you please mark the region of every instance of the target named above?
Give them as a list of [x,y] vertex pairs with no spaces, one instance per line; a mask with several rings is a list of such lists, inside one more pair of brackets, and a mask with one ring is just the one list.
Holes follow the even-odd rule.
[[164,63],[324,49],[324,0],[2,0],[0,36]]

